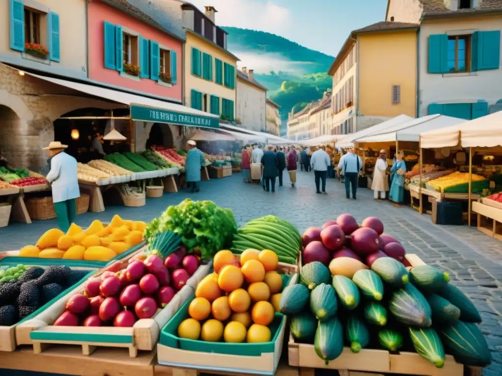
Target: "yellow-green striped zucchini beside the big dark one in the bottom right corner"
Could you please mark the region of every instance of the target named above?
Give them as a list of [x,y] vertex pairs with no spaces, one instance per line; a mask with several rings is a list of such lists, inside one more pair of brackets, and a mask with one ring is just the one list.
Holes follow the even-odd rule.
[[438,333],[432,328],[409,328],[409,331],[411,341],[418,354],[437,368],[442,368],[445,354]]

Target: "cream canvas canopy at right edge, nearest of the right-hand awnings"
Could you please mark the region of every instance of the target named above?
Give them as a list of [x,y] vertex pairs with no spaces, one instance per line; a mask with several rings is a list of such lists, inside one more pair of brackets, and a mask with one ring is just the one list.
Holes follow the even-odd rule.
[[423,148],[495,147],[502,145],[502,111],[420,134]]

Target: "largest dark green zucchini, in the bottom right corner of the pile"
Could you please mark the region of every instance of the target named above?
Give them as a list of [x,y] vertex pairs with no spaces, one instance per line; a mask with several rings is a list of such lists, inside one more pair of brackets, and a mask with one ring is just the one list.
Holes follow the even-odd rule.
[[455,321],[437,328],[448,354],[459,363],[485,367],[492,357],[488,344],[478,326],[472,322]]

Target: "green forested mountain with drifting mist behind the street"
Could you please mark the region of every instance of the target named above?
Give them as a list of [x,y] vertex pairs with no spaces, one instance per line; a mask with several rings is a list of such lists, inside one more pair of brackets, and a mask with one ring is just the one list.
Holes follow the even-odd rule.
[[334,57],[308,49],[275,34],[223,27],[227,47],[240,66],[254,69],[255,78],[269,89],[268,96],[281,106],[281,118],[318,100],[332,79],[327,75]]

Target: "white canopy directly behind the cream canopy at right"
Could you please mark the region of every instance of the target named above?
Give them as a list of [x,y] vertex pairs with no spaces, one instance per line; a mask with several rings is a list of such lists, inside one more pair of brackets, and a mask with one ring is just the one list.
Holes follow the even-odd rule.
[[395,142],[414,141],[418,142],[420,134],[430,130],[445,128],[462,123],[464,120],[445,115],[427,115],[412,119],[389,128],[385,133],[368,135],[355,140],[355,142]]

